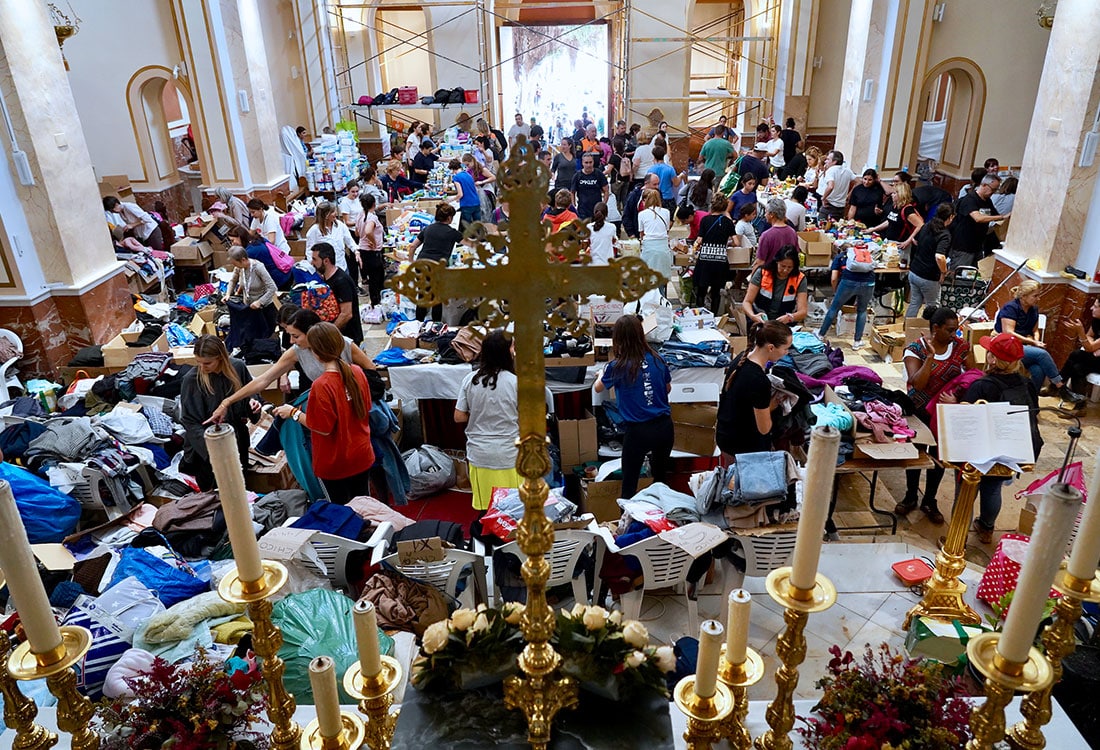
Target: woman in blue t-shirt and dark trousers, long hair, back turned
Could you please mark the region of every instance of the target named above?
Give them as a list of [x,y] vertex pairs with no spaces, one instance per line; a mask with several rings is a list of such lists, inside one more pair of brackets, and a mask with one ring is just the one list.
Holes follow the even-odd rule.
[[623,416],[623,497],[638,489],[641,464],[649,455],[654,482],[664,482],[672,454],[672,375],[646,342],[641,319],[623,316],[612,329],[612,360],[596,378],[596,393],[615,388]]

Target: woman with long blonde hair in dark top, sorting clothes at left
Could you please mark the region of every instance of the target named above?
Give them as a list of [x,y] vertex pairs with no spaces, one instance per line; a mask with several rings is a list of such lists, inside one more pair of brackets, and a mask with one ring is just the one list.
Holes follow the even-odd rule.
[[[179,421],[186,432],[184,460],[180,470],[191,474],[204,492],[215,485],[210,455],[207,453],[206,422],[221,401],[252,380],[249,368],[241,360],[233,360],[226,344],[216,335],[200,335],[195,340],[196,366],[187,371],[179,391]],[[255,421],[260,401],[250,398],[234,404],[224,411],[224,422],[237,433],[237,450],[241,461],[249,456],[249,420]],[[221,420],[219,420],[221,421]]]

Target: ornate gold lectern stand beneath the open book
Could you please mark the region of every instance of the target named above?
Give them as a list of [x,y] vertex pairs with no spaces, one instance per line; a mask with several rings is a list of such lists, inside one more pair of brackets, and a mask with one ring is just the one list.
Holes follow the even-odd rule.
[[[955,466],[942,462],[944,466],[957,468],[963,473],[963,486],[958,498],[952,508],[952,520],[947,526],[947,538],[936,554],[936,570],[932,580],[925,585],[924,597],[905,614],[902,628],[909,626],[916,617],[932,617],[950,622],[958,620],[963,625],[981,625],[981,617],[974,608],[963,600],[966,584],[959,580],[966,570],[966,537],[970,531],[974,518],[974,501],[978,497],[978,484],[982,476],[1012,476],[1012,470],[996,464],[982,474],[971,464]],[[1025,464],[1023,471],[1031,471],[1031,464]]]

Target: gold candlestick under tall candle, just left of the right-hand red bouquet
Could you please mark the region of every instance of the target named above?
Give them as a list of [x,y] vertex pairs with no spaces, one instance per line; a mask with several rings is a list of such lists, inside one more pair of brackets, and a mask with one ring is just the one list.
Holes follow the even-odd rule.
[[814,613],[825,611],[836,604],[836,586],[821,573],[813,588],[791,585],[791,567],[778,567],[768,574],[768,595],[783,605],[787,629],[776,643],[780,665],[776,672],[779,692],[768,705],[770,729],[756,739],[757,750],[791,750],[791,728],[794,726],[794,690],[799,686],[799,664],[806,658],[806,620]]

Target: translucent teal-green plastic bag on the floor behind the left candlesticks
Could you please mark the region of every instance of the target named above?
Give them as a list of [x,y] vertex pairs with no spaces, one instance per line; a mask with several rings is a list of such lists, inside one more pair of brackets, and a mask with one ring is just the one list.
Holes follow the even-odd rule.
[[[328,588],[292,594],[275,603],[272,620],[283,630],[283,648],[278,655],[286,662],[283,681],[299,706],[314,703],[314,691],[309,684],[310,661],[317,657],[331,657],[337,663],[337,674],[342,675],[359,660],[351,614],[354,604],[343,594]],[[381,629],[378,644],[383,653],[393,654],[394,639]],[[340,703],[355,703],[340,682]]]

